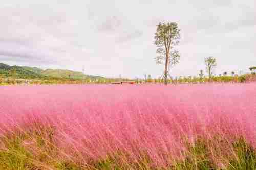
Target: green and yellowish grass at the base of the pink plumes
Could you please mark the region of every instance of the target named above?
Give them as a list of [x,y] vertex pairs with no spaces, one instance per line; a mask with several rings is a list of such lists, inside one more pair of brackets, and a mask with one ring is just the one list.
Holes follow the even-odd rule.
[[[40,134],[40,133],[38,133]],[[206,138],[198,138],[195,143],[187,142],[186,150],[183,151],[184,158],[176,159],[166,167],[152,166],[154,160],[150,159],[146,154],[140,155],[137,161],[126,162],[125,153],[117,152],[114,155],[109,155],[105,158],[100,158],[95,161],[90,161],[86,164],[77,161],[68,160],[65,158],[56,159],[50,156],[51,151],[46,151],[44,145],[38,143],[37,150],[32,151],[24,142],[33,138],[35,134],[24,138],[22,134],[14,134],[14,136],[0,139],[6,147],[0,150],[0,168],[1,169],[57,169],[57,170],[90,170],[90,169],[175,169],[175,170],[193,170],[193,169],[255,169],[256,168],[256,151],[251,147],[246,140],[241,137],[234,140],[229,151],[233,153],[222,154],[223,162],[216,162],[218,157],[212,157],[212,152],[217,152],[218,148],[212,148],[212,143],[220,141],[214,138],[208,140]],[[42,140],[46,140],[45,136],[40,136]],[[219,143],[220,144],[220,143]],[[221,146],[223,148],[223,146]],[[45,153],[43,153],[45,152]],[[43,156],[45,155],[45,156]],[[43,157],[44,158],[43,158]]]

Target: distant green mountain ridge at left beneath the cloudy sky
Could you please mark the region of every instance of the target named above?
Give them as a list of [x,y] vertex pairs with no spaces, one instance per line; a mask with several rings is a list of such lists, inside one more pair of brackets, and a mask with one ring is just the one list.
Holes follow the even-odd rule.
[[40,69],[37,67],[28,66],[10,66],[4,63],[0,63],[0,76],[2,77],[16,77],[23,79],[35,79],[35,78],[58,78],[58,79],[105,79],[101,76],[86,75],[82,72],[71,71],[65,69]]

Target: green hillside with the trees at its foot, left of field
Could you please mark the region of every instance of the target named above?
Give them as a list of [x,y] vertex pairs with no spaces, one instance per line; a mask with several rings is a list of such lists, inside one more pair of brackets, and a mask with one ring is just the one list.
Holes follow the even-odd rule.
[[[0,85],[9,84],[86,84],[86,83],[111,83],[119,79],[104,78],[100,76],[85,75],[82,72],[47,69],[37,67],[9,66],[0,63]],[[131,81],[121,79],[121,81]]]

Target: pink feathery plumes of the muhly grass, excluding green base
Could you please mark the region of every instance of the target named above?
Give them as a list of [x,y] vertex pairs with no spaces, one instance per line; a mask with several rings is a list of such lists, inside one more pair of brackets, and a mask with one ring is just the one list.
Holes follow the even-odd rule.
[[51,128],[59,156],[81,162],[122,152],[165,165],[201,137],[256,147],[255,83],[3,86],[0,114],[1,136]]

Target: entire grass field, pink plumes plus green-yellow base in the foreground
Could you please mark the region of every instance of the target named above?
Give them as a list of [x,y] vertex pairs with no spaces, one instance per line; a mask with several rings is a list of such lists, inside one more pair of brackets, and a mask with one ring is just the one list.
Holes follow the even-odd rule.
[[0,169],[256,169],[256,83],[0,87]]

